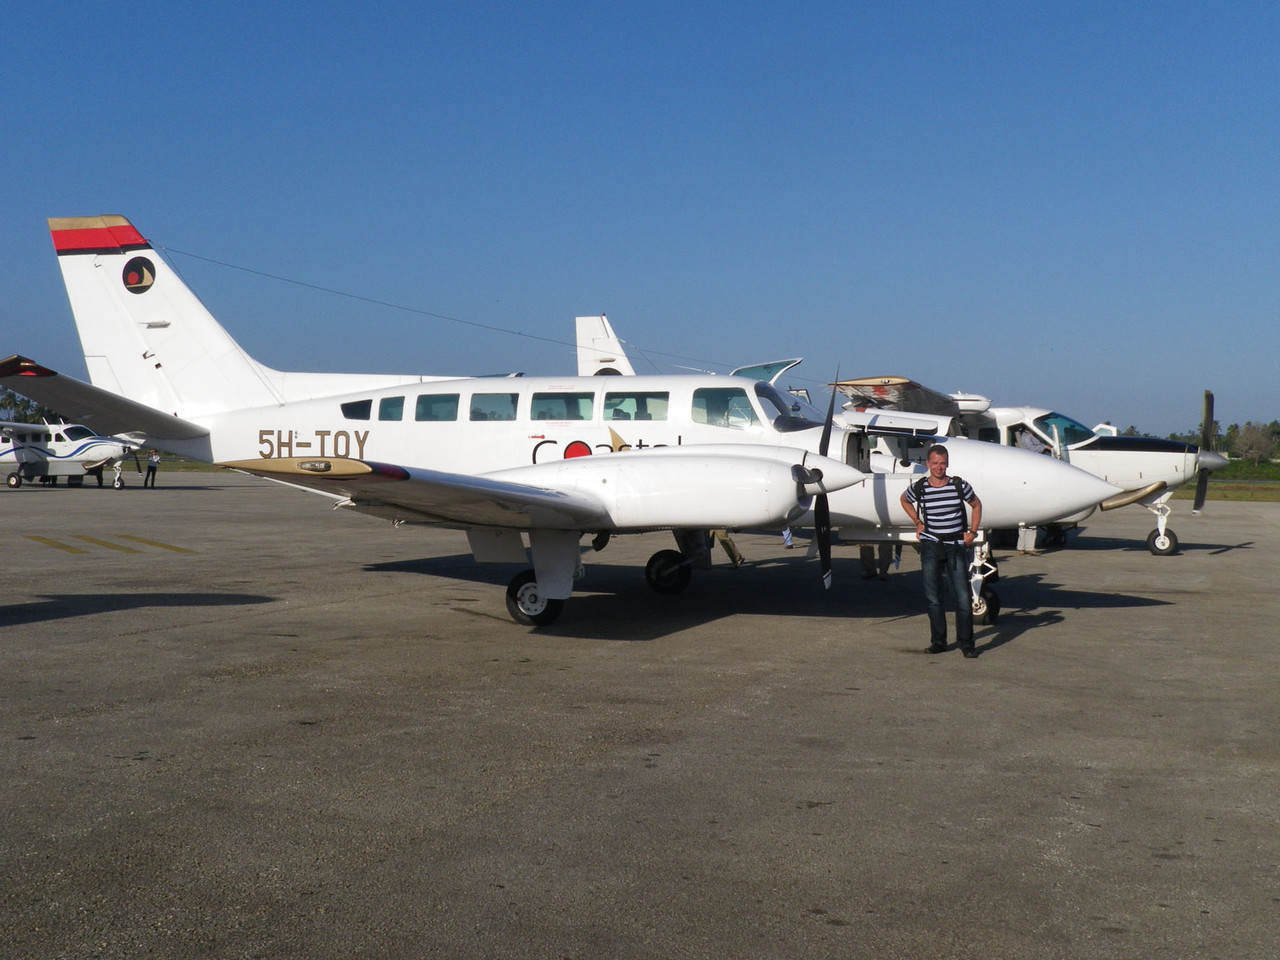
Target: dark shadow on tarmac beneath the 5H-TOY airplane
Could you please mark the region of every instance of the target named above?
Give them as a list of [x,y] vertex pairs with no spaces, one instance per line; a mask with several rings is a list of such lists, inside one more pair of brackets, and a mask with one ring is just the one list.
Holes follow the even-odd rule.
[[[506,589],[520,568],[518,564],[479,564],[467,554],[365,567],[370,572],[420,573],[489,584],[495,589]],[[716,564],[695,571],[684,593],[662,595],[649,589],[639,566],[588,564],[586,577],[575,585],[573,596],[559,620],[536,632],[584,640],[645,641],[735,614],[780,621],[847,617],[904,621],[901,639],[927,643],[927,626],[905,623],[915,617],[924,618],[919,570],[890,572],[883,581],[863,580],[856,559],[833,558],[832,573],[832,589],[823,590],[814,562],[765,559],[748,562],[737,570]],[[996,589],[1005,612],[995,625],[975,631],[979,645],[988,649],[1010,643],[1029,630],[1062,622],[1071,609],[1132,609],[1169,603],[1129,594],[1070,590],[1046,581],[1043,575],[1002,577]],[[801,639],[794,636],[795,630],[794,623],[780,626],[778,639]]]

